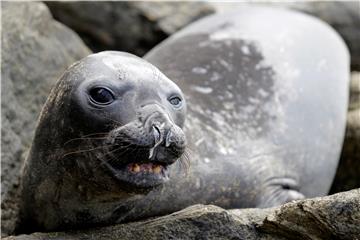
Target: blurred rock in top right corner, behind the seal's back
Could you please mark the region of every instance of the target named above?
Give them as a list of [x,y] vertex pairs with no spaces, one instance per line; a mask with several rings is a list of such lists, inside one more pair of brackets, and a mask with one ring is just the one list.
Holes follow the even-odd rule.
[[[216,11],[222,12],[243,4],[242,3],[212,3]],[[256,3],[259,4],[259,3]],[[351,66],[353,70],[360,70],[360,3],[359,1],[293,1],[274,2],[262,1],[261,4],[276,7],[286,7],[299,10],[322,19],[330,24],[344,38],[351,53]]]

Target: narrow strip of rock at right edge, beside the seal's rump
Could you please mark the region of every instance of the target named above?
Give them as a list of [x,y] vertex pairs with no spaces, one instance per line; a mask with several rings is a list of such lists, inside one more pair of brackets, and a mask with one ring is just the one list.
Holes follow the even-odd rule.
[[353,72],[346,133],[339,167],[331,192],[360,187],[360,72]]

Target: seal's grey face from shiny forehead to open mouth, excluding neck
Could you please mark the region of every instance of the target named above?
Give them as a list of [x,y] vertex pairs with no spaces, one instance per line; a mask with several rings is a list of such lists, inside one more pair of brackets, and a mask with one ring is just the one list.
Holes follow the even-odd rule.
[[69,116],[83,126],[80,135],[105,133],[96,156],[116,179],[138,187],[166,181],[168,166],[185,150],[181,90],[130,54],[95,54],[85,65],[92,74],[73,92]]

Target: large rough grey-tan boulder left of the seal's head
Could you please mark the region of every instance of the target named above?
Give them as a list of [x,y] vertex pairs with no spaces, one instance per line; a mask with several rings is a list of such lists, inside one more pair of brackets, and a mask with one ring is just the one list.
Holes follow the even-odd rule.
[[90,51],[43,3],[4,2],[1,10],[1,230],[6,235],[14,227],[20,168],[40,109],[56,78]]

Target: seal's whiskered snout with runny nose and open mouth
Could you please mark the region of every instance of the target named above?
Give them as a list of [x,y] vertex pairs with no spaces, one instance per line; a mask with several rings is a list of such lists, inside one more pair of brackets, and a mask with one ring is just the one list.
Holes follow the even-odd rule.
[[107,144],[115,159],[106,165],[112,174],[122,182],[147,188],[169,179],[169,166],[185,153],[186,139],[172,118],[156,108],[112,130]]

